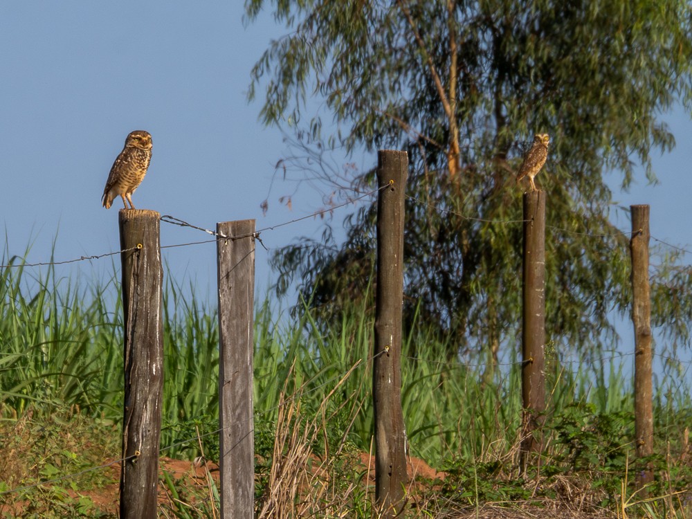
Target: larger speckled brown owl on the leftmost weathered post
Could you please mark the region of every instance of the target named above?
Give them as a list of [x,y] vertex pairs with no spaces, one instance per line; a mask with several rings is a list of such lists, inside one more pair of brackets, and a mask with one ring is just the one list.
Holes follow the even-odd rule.
[[128,208],[127,202],[130,204],[129,208],[134,209],[132,194],[142,183],[151,160],[152,136],[144,130],[131,132],[125,139],[125,147],[122,148],[108,175],[101,198],[104,208],[109,209],[113,199],[120,195],[125,209]]

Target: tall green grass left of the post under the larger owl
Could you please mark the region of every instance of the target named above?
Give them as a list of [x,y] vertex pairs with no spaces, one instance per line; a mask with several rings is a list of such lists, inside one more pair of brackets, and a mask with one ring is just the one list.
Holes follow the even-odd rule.
[[0,271],[3,417],[28,406],[113,412],[122,372],[118,305],[107,309],[102,289],[58,278],[54,268],[28,274],[21,260],[12,263]]

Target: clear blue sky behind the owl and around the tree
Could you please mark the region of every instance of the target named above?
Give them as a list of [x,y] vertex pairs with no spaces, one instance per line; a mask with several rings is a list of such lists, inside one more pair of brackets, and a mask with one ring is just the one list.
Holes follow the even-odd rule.
[[[23,255],[30,244],[28,261],[47,261],[54,241],[56,260],[117,251],[121,203],[105,210],[100,197],[134,129],[154,139],[149,174],[134,196],[138,208],[206,228],[246,218],[263,228],[321,207],[320,198],[306,191],[292,210],[282,208],[277,198],[293,185],[279,184],[262,215],[260,203],[285,146],[280,131],[258,122],[260,103],[248,104],[246,90],[251,66],[285,29],[268,15],[245,27],[243,13],[237,0],[0,3],[5,257]],[[630,193],[614,198],[624,206],[649,203],[652,235],[690,248],[692,123],[681,110],[664,118],[677,147],[656,157],[661,184],[648,186],[641,175]],[[354,160],[367,166],[370,159]],[[336,224],[345,214],[336,213]],[[280,247],[312,235],[319,223],[303,221],[262,238]],[[630,228],[623,215],[617,225]],[[208,237],[168,224],[161,230],[163,245]],[[168,249],[164,257],[177,280],[193,280],[197,295],[215,302],[214,244]],[[267,260],[258,247],[258,298],[271,277]],[[117,256],[113,261],[119,264]],[[93,277],[111,272],[111,259],[57,269],[61,276]]]

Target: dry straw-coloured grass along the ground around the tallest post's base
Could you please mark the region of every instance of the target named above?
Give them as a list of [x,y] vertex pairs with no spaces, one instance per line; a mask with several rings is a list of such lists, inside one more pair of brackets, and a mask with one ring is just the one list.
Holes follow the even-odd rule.
[[[257,508],[258,518],[380,518],[381,511],[374,504],[374,462],[372,455],[345,452],[342,441],[339,448],[330,451],[325,436],[329,424],[345,403],[330,405],[334,393],[345,383],[349,371],[334,389],[322,399],[315,411],[304,410],[302,396],[306,388],[298,388],[290,396],[288,382],[281,395],[280,412],[276,424],[273,455],[264,495]],[[331,410],[328,412],[327,410]],[[345,435],[348,433],[345,432]],[[406,506],[400,517],[440,519],[627,519],[644,517],[654,519],[653,509],[647,512],[646,500],[628,495],[626,482],[622,494],[608,492],[594,485],[593,473],[565,473],[543,475],[538,471],[527,480],[519,480],[516,445],[498,450],[488,448],[475,463],[498,462],[500,468],[492,475],[490,484],[506,500],[478,499],[463,492],[457,494],[457,485],[463,484],[454,475],[437,472],[421,460],[412,459],[409,465],[410,481],[406,486]],[[316,448],[317,447],[317,448]],[[320,454],[316,454],[316,450]],[[502,452],[500,452],[502,451]],[[537,455],[536,455],[537,456]],[[544,453],[545,456],[545,453]],[[683,456],[684,459],[684,456]],[[538,458],[531,463],[537,464]],[[545,462],[545,458],[543,459]],[[488,477],[481,475],[479,477]],[[479,482],[475,482],[479,484]],[[487,489],[486,489],[487,490]],[[524,498],[511,498],[513,491],[522,491]],[[473,494],[473,492],[471,492]],[[551,497],[546,497],[551,496]],[[617,509],[602,506],[604,502],[620,500]],[[677,502],[673,502],[677,498]],[[668,499],[671,519],[688,517],[680,496]],[[635,515],[633,511],[637,511]]]

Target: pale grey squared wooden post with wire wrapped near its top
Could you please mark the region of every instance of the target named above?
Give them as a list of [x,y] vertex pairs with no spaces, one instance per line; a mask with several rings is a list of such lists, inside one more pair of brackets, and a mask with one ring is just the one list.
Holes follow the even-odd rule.
[[255,220],[217,224],[221,517],[252,519]]

